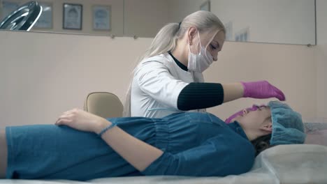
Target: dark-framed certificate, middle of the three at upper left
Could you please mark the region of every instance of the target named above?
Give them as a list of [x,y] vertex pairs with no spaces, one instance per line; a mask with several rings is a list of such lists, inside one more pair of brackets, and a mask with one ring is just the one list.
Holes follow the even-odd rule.
[[81,4],[64,3],[63,29],[82,30]]

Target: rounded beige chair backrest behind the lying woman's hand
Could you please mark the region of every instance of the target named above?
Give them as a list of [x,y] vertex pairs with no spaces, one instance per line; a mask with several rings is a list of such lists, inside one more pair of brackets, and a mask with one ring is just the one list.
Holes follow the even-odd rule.
[[122,117],[124,107],[117,95],[108,92],[93,92],[87,95],[84,110],[103,118]]

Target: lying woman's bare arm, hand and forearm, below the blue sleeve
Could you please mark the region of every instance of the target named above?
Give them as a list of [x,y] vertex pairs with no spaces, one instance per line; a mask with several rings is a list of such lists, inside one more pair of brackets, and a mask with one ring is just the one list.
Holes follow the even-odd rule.
[[[68,125],[77,130],[99,134],[101,130],[111,125],[111,122],[89,112],[73,109],[64,112],[57,120],[56,125]],[[136,139],[118,127],[106,131],[102,138],[122,158],[139,171],[143,171],[163,153],[158,148]]]

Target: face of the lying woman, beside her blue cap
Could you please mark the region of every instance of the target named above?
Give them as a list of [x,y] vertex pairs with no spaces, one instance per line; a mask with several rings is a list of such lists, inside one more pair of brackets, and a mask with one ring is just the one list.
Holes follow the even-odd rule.
[[236,116],[233,121],[238,121],[246,129],[258,129],[263,123],[271,123],[271,112],[268,106],[261,106],[254,111],[245,109],[243,114]]

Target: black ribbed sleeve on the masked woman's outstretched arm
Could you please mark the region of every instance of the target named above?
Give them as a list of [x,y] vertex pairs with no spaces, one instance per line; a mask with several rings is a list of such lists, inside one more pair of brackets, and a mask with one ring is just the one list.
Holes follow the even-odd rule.
[[224,102],[224,89],[219,83],[195,83],[185,86],[177,98],[177,108],[182,111],[205,109]]

